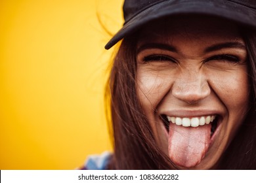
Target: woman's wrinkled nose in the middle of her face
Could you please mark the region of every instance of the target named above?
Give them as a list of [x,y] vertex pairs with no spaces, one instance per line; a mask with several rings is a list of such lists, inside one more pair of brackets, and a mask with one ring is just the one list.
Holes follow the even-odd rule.
[[173,96],[188,104],[195,104],[205,99],[211,93],[211,88],[202,73],[181,73],[175,80]]

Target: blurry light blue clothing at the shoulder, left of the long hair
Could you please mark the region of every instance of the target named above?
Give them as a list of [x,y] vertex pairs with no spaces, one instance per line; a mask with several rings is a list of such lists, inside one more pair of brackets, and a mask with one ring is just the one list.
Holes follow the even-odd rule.
[[110,152],[103,152],[100,155],[91,155],[87,158],[82,169],[85,170],[106,170],[111,157]]

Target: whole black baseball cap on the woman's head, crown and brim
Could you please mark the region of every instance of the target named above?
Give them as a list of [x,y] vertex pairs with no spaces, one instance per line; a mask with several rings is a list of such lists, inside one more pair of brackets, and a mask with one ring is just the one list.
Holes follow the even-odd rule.
[[179,14],[219,16],[256,28],[256,0],[125,0],[125,23],[105,48],[110,49],[152,20]]

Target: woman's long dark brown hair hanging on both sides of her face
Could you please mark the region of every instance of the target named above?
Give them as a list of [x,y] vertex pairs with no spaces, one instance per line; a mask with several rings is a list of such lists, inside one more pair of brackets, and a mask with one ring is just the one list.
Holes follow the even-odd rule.
[[[256,32],[247,31],[243,36],[248,53],[251,110],[217,169],[256,169]],[[108,82],[114,133],[109,168],[171,169],[174,165],[157,146],[137,97],[136,41],[136,34],[123,39]]]

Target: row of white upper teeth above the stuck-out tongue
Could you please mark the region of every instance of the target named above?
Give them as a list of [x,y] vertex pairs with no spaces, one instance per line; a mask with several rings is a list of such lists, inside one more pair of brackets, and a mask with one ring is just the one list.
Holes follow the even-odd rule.
[[192,126],[197,127],[199,125],[209,124],[213,122],[216,118],[216,115],[208,115],[208,116],[200,116],[195,118],[181,118],[181,117],[173,117],[167,116],[169,122],[173,124],[182,125],[184,127]]

